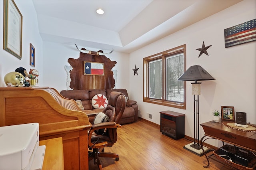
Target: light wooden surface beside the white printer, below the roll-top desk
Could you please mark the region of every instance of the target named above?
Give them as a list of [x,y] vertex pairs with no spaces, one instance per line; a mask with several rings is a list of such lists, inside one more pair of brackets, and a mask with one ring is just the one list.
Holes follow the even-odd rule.
[[42,170],[64,170],[62,137],[40,140],[39,145],[46,145]]

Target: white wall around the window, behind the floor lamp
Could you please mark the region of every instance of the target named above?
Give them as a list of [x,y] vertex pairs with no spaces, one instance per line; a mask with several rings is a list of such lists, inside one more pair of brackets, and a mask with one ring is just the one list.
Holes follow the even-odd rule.
[[[186,65],[201,65],[216,80],[202,81],[200,98],[200,123],[213,120],[212,111],[221,106],[234,106],[234,110],[247,113],[247,120],[256,124],[256,42],[224,47],[224,29],[252,20],[256,16],[256,1],[244,0],[230,8],[193,24],[162,40],[130,53],[130,67],[140,67],[138,76],[130,74],[130,97],[138,102],[139,116],[160,125],[159,111],[175,111],[186,114],[185,134],[194,136],[193,95],[191,82],[187,82],[186,110],[143,102],[143,58],[186,44]],[[197,48],[212,45],[209,54]],[[204,131],[200,127],[200,137]],[[211,143],[211,142],[210,142]],[[216,145],[217,141],[212,144]]]

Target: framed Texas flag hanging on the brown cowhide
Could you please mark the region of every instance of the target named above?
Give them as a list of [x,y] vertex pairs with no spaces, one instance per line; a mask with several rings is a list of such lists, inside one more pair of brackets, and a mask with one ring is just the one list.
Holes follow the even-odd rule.
[[84,61],[84,75],[104,75],[104,63]]

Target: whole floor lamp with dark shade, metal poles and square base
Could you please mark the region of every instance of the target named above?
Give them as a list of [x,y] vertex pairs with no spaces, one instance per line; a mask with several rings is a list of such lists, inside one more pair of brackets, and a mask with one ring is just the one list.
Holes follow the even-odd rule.
[[202,156],[203,154],[202,148],[199,145],[199,95],[201,93],[201,88],[200,88],[201,83],[198,83],[197,81],[198,80],[215,80],[215,79],[200,65],[192,65],[185,71],[185,73],[183,73],[182,76],[180,76],[178,80],[195,81],[194,83],[191,83],[192,95],[194,95],[194,142],[184,146],[184,148],[199,156]]

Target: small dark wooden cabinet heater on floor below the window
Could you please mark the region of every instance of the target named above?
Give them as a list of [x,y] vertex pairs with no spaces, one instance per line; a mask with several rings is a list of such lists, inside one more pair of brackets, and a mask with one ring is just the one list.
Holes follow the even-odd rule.
[[160,127],[162,134],[175,140],[183,138],[185,134],[185,114],[173,111],[161,111]]

